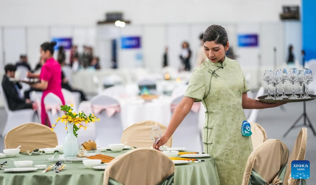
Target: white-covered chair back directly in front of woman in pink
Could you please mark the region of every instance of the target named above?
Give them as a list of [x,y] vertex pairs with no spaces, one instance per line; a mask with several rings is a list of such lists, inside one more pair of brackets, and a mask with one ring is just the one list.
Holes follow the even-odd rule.
[[[48,93],[44,98],[45,108],[48,106],[52,107],[50,110],[46,110],[49,122],[51,125],[56,123],[56,119],[61,117],[64,113],[60,110],[60,106],[63,105],[60,98],[54,93]],[[55,110],[53,110],[55,109]],[[59,122],[57,126],[54,128],[54,132],[57,134],[58,144],[62,145],[64,143],[64,139],[67,135],[67,131],[65,130],[66,126],[64,123]]]

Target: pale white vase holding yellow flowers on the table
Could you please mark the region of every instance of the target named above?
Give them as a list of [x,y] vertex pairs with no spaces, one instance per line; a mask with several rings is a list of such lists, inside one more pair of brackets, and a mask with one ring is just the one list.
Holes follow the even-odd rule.
[[79,143],[77,137],[74,135],[74,123],[67,123],[68,134],[64,140],[64,156],[67,158],[75,158],[79,152]]

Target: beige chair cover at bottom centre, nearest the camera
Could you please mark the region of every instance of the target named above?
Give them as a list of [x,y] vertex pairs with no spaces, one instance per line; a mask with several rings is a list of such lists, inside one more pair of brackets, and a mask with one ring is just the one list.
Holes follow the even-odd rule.
[[104,172],[103,184],[109,177],[124,185],[157,184],[174,173],[173,162],[155,149],[139,148],[113,159]]

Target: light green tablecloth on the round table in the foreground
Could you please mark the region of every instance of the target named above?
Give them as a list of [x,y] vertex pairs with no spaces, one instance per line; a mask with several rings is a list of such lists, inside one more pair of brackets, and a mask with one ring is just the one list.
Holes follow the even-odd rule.
[[[103,154],[117,157],[131,149],[126,149],[121,152],[106,151]],[[61,154],[62,155],[62,154]],[[41,155],[25,155],[18,154],[14,157],[14,160],[33,160],[34,165],[51,165],[56,161],[49,161],[48,158],[53,154],[41,154]],[[205,162],[199,163],[185,163],[175,166],[174,183],[179,185],[185,184],[212,184],[218,185],[219,178],[216,171],[214,159],[211,157],[202,158]],[[13,161],[9,157],[0,159],[0,163],[9,161],[7,168],[15,168]],[[76,185],[76,184],[103,184],[103,170],[88,169],[82,161],[73,161],[67,164],[67,167],[59,172],[48,171],[41,173],[43,170],[37,170],[25,173],[12,173],[0,170],[0,185]]]

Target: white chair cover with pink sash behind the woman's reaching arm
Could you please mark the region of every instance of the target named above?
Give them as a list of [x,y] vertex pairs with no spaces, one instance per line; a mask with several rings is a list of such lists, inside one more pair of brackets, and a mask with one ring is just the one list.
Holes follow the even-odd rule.
[[[174,98],[171,105],[175,106],[180,103],[182,96]],[[173,146],[184,147],[187,150],[202,152],[203,142],[200,137],[200,129],[198,127],[199,107],[201,103],[194,103],[193,106],[197,106],[197,110],[191,111],[185,116],[181,124],[173,133]],[[173,113],[173,111],[171,111]]]

